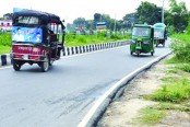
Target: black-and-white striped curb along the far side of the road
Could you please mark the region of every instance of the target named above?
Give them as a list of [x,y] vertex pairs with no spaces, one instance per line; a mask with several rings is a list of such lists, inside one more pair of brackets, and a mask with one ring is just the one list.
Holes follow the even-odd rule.
[[[124,46],[129,44],[130,41],[122,41],[122,42],[110,42],[110,43],[103,43],[103,44],[94,44],[94,45],[85,45],[85,46],[73,46],[73,47],[64,47],[62,49],[61,56],[71,56],[76,54],[84,54],[91,53],[102,49],[108,49],[119,46]],[[0,55],[0,67],[11,65],[10,54]]]

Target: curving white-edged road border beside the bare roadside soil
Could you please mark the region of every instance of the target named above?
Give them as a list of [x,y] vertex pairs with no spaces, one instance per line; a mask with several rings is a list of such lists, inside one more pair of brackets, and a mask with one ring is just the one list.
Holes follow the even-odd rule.
[[114,100],[117,92],[127,83],[132,80],[135,76],[143,72],[144,70],[151,68],[154,64],[161,61],[166,56],[170,55],[171,51],[150,61],[149,64],[144,65],[143,67],[134,70],[133,72],[127,74],[124,78],[122,78],[120,81],[118,81],[116,84],[114,84],[102,97],[99,97],[95,104],[92,106],[92,108],[88,111],[88,113],[83,117],[81,123],[78,125],[78,127],[93,127],[96,126],[97,122],[99,120],[100,116],[106,111],[109,103]]

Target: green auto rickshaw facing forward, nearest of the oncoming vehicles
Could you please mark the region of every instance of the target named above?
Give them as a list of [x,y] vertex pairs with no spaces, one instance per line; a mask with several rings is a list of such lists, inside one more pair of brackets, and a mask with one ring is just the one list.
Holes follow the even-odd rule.
[[131,55],[135,53],[138,57],[141,53],[154,55],[154,28],[152,25],[134,24],[130,51]]

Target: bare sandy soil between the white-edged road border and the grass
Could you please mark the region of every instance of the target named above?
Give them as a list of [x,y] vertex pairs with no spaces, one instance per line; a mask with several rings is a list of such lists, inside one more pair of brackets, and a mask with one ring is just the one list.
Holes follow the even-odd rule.
[[[103,118],[98,123],[98,127],[142,127],[132,119],[139,116],[139,111],[145,106],[156,104],[153,101],[143,100],[144,95],[153,93],[157,90],[164,77],[167,77],[166,70],[171,65],[165,65],[164,61],[171,56],[168,56],[150,70],[141,73],[124,88],[121,97],[114,101],[106,109]],[[143,125],[149,127],[150,125]],[[190,114],[179,111],[169,111],[154,127],[190,127]]]

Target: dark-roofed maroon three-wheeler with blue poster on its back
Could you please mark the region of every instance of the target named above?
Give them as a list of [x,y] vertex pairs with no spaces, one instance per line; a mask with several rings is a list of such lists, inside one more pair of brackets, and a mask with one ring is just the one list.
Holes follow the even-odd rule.
[[13,13],[11,60],[15,71],[24,64],[37,64],[48,71],[60,59],[64,43],[64,25],[60,18],[40,11]]

